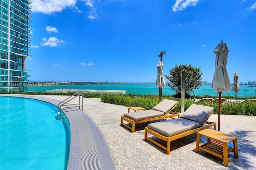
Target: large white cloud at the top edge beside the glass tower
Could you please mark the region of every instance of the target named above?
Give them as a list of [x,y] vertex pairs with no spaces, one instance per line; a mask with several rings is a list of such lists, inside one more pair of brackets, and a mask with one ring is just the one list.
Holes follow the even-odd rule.
[[32,12],[52,14],[76,5],[77,0],[31,0]]

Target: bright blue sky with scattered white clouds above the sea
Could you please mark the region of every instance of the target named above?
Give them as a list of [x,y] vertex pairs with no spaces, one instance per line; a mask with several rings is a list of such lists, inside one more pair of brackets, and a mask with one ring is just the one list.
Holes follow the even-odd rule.
[[256,0],[31,0],[31,81],[155,82],[175,65],[212,81],[216,45],[227,70],[256,81]]

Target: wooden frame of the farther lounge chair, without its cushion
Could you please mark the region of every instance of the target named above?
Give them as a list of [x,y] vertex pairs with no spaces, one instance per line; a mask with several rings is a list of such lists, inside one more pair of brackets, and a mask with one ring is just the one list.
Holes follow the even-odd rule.
[[[180,117],[180,113],[174,113],[172,112],[172,110],[177,107],[178,105],[175,105],[170,111],[168,111],[166,114],[164,114],[163,116],[159,116],[159,117],[152,117],[152,118],[149,118],[149,119],[143,119],[143,120],[140,120],[140,121],[134,121],[128,117],[125,117],[124,115],[121,115],[121,123],[120,125],[124,125],[125,127],[129,128],[130,130],[132,130],[132,133],[134,133],[135,131],[135,124],[136,123],[143,123],[143,122],[149,122],[149,121],[156,121],[156,120],[160,120],[160,119],[166,119],[166,118],[172,118],[174,119],[173,117]],[[140,112],[138,112],[139,114]],[[168,115],[169,114],[169,115]],[[131,123],[132,124],[132,127],[126,125],[125,123],[123,123],[123,120],[128,122],[128,123]]]

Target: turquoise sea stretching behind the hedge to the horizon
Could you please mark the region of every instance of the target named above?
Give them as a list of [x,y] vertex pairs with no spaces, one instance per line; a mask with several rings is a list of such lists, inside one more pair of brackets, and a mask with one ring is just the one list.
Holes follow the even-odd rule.
[[[158,95],[158,87],[155,83],[97,83],[86,85],[51,85],[51,84],[39,84],[36,86],[30,86],[29,90],[34,92],[45,92],[46,90],[56,90],[59,93],[59,89],[78,89],[78,90],[122,90],[126,94],[139,94],[139,95]],[[169,86],[165,85],[162,88],[162,95],[174,95],[176,92]],[[211,85],[202,85],[199,89],[196,89],[192,95],[213,95],[218,96],[218,92],[215,92]],[[235,91],[229,90],[222,93],[222,96],[236,96]],[[252,97],[256,96],[256,86],[240,85],[240,91],[237,92],[237,97]]]

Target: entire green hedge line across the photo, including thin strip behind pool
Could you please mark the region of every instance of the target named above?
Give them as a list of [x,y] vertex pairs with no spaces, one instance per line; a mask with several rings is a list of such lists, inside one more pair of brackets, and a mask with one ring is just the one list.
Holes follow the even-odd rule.
[[[24,94],[24,95],[73,95],[74,93],[42,93],[42,92],[0,92],[0,94]],[[158,104],[158,95],[113,95],[113,94],[95,94],[95,93],[84,93],[84,97],[86,98],[101,98],[104,103],[111,103],[115,105],[122,105],[126,107],[143,107],[146,110],[152,109],[154,106]],[[185,110],[192,104],[205,105],[214,107],[214,114],[218,114],[218,103],[197,103],[195,99],[200,99],[202,97],[210,97],[217,98],[216,96],[192,96],[191,99],[185,99]],[[234,99],[234,96],[222,96],[222,98],[226,99]],[[163,99],[176,100],[171,95],[164,95]],[[239,98],[239,99],[248,99],[248,97]],[[250,99],[256,99],[256,97],[250,97]],[[174,109],[174,112],[181,112],[181,101],[178,101],[178,106]],[[256,115],[256,103],[252,101],[244,102],[244,103],[225,103],[221,105],[221,114],[224,115]]]

